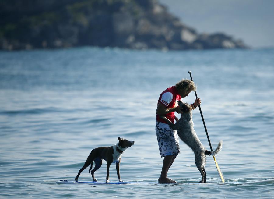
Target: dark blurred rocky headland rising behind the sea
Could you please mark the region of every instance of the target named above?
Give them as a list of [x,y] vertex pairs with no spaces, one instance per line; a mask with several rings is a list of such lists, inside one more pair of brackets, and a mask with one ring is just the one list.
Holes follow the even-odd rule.
[[132,49],[247,48],[226,34],[198,34],[156,0],[0,1],[0,49],[74,46]]

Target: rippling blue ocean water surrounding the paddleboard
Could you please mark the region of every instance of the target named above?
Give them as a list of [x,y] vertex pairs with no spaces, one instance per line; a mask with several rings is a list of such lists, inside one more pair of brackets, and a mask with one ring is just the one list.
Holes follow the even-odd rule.
[[[72,48],[0,52],[1,198],[274,198],[274,184],[157,184],[160,157],[155,111],[160,93],[188,71],[226,182],[274,178],[274,49],[134,51]],[[184,98],[192,103],[195,94]],[[177,117],[179,115],[177,114]],[[209,149],[198,108],[194,128]],[[58,185],[73,180],[95,147],[118,136],[135,144],[122,155],[124,185]],[[168,172],[198,182],[192,151]],[[220,182],[207,157],[207,182]],[[106,162],[95,172],[104,182]],[[79,177],[90,181],[88,169]],[[110,181],[117,181],[115,164]],[[142,182],[155,182],[145,184]]]

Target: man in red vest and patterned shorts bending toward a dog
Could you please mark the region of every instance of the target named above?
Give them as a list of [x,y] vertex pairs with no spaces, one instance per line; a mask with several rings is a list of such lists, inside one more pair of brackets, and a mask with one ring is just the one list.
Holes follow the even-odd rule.
[[[174,120],[177,121],[178,118],[174,115],[174,112],[182,113],[180,107],[178,107],[178,101],[181,100],[181,98],[187,97],[191,91],[195,90],[196,86],[193,81],[183,79],[175,86],[167,88],[160,94],[156,109],[156,135],[160,155],[162,158],[164,157],[164,159],[162,172],[158,179],[159,183],[176,183],[167,177],[167,172],[176,156],[180,153],[177,131],[174,131],[161,116],[165,116],[172,123],[174,123]],[[192,109],[194,110],[200,104],[200,98],[196,99],[195,102],[191,104]]]

